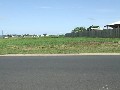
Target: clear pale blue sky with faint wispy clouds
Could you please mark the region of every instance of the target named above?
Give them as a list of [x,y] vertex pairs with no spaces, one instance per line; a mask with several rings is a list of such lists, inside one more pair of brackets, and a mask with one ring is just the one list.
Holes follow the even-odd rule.
[[0,34],[65,34],[120,20],[120,0],[0,0]]

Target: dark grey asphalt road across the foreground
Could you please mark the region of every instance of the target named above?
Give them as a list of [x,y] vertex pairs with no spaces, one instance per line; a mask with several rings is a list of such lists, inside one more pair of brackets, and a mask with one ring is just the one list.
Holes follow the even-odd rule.
[[1,56],[0,90],[120,90],[120,56]]

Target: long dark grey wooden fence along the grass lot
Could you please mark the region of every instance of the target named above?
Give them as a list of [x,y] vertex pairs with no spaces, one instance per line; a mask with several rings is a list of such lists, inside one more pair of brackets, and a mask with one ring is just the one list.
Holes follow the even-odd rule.
[[120,29],[104,29],[83,31],[78,33],[67,33],[66,37],[101,37],[101,38],[120,38]]

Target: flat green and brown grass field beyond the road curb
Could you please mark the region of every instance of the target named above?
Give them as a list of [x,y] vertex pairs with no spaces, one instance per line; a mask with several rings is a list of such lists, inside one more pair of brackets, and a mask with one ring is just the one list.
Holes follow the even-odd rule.
[[0,39],[0,54],[120,53],[120,38]]

